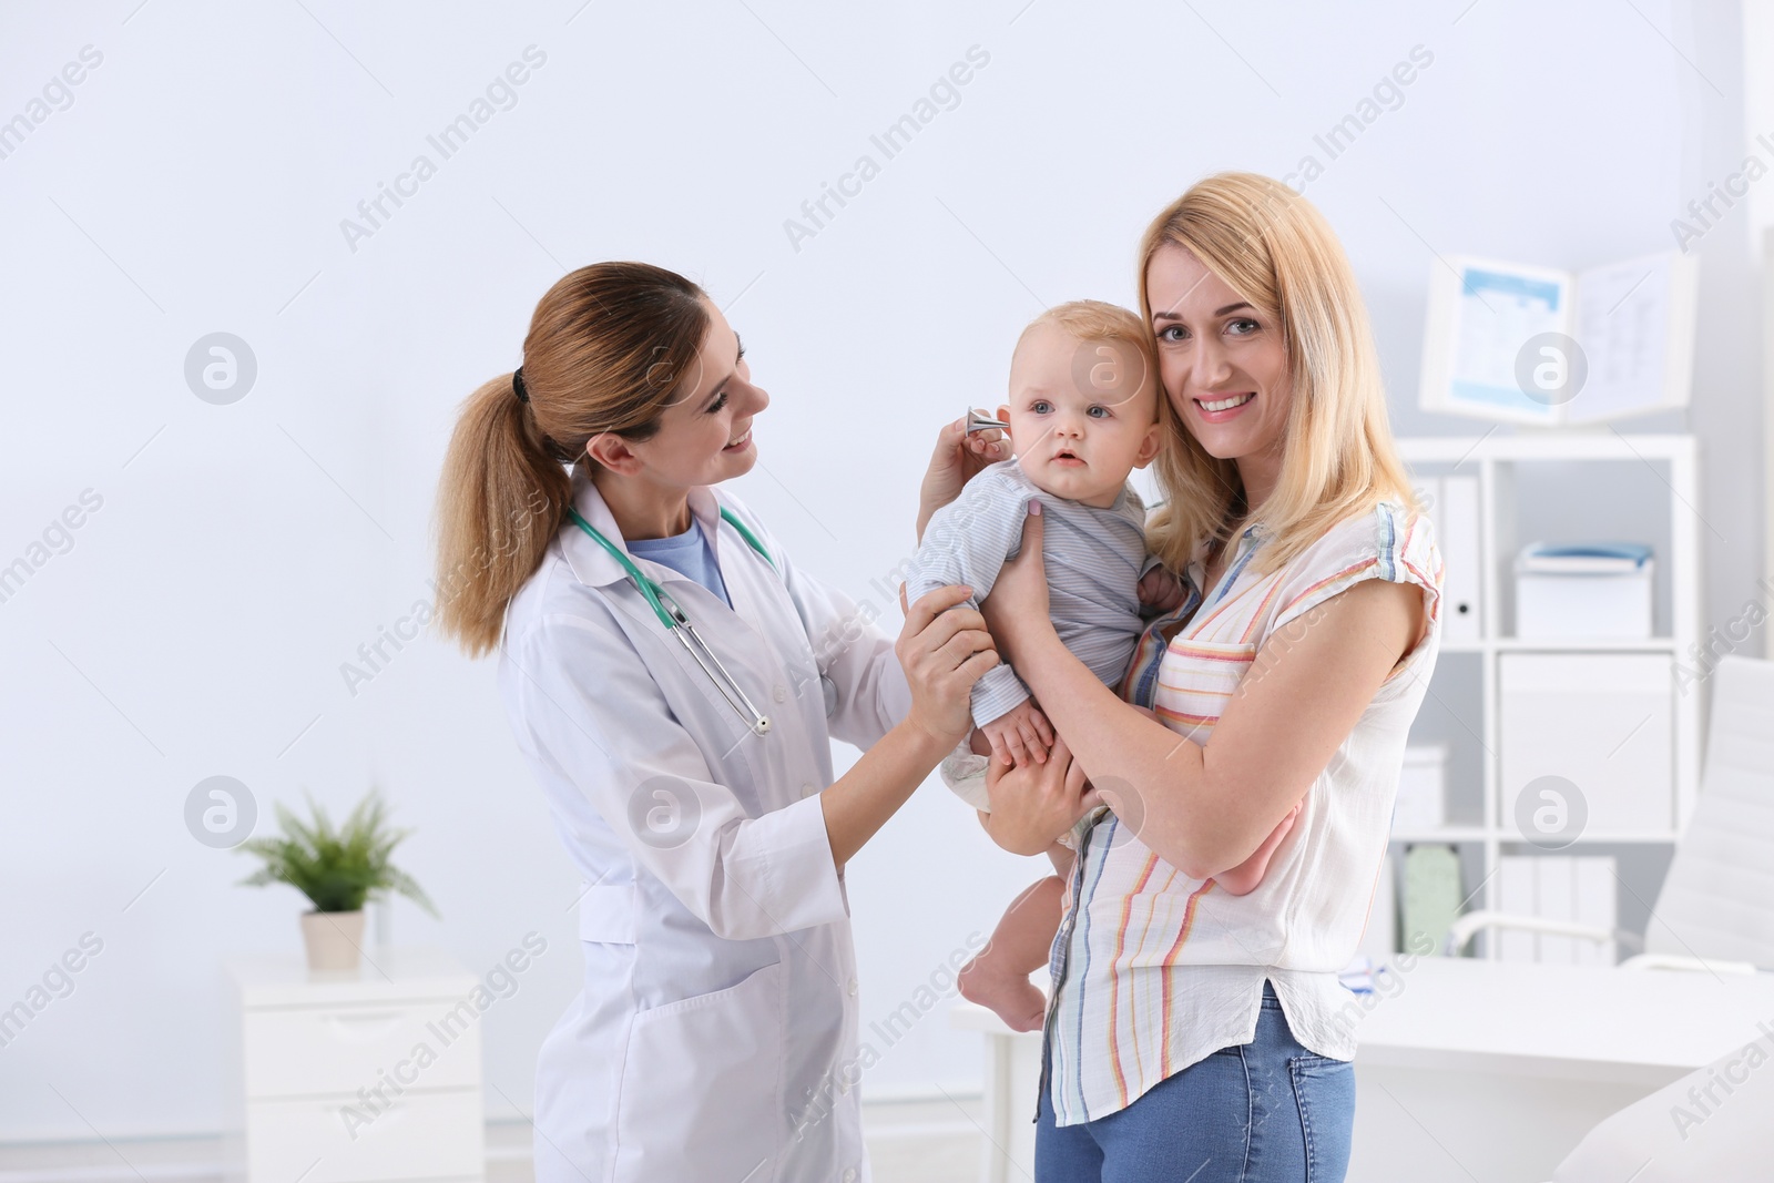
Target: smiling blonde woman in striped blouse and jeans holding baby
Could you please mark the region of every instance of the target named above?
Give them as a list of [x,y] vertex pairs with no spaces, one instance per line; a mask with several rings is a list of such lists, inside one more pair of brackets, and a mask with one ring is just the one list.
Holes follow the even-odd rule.
[[[1139,287],[1166,392],[1148,536],[1185,601],[1118,695],[1059,644],[1031,507],[983,605],[1059,736],[1047,764],[993,763],[993,839],[1077,850],[1036,1178],[1341,1179],[1355,1039],[1336,974],[1440,646],[1442,564],[1313,206],[1208,177],[1148,229]],[[1261,885],[1221,890],[1295,805]]]

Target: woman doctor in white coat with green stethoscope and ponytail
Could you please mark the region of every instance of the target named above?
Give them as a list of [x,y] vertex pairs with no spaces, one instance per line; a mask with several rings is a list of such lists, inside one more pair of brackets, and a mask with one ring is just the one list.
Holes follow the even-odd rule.
[[[536,1069],[538,1183],[867,1178],[844,864],[967,734],[997,663],[979,614],[946,612],[969,589],[922,596],[891,642],[717,493],[770,403],[743,358],[690,280],[580,268],[445,461],[442,626],[500,651],[589,885],[584,993]],[[926,505],[1008,447],[963,438],[944,435]],[[866,748],[836,782],[830,736]]]

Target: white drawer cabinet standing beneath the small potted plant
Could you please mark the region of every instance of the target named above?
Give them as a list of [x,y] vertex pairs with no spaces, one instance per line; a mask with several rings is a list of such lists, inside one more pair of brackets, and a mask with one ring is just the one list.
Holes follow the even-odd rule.
[[353,974],[300,951],[225,961],[247,1183],[483,1179],[479,981],[438,949],[365,949]]

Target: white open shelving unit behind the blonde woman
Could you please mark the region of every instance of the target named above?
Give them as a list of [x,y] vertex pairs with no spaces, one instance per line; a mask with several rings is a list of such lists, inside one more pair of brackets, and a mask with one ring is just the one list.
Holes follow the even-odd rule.
[[[1394,825],[1412,842],[1460,850],[1465,910],[1503,908],[1499,862],[1561,850],[1623,857],[1621,910],[1643,910],[1655,881],[1634,881],[1673,848],[1699,786],[1701,701],[1715,639],[1699,633],[1699,513],[1694,438],[1538,431],[1400,438],[1412,482],[1432,498],[1448,564],[1442,649],[1412,743],[1448,743],[1442,827]],[[1446,521],[1446,525],[1444,525]],[[1519,635],[1515,553],[1522,541],[1639,541],[1655,553],[1653,631],[1632,639]],[[1456,612],[1465,607],[1465,612]],[[1535,809],[1554,779],[1586,811],[1568,842],[1542,841]],[[1538,787],[1536,787],[1538,782]],[[1542,814],[1552,816],[1552,814]],[[1396,860],[1394,860],[1396,862]],[[1653,871],[1655,873],[1655,871]],[[1621,915],[1637,926],[1639,915]],[[1483,956],[1497,956],[1480,938]]]

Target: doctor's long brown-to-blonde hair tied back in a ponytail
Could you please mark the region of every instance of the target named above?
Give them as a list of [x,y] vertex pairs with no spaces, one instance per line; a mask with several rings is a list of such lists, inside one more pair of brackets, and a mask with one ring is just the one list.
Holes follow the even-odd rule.
[[506,605],[541,564],[571,502],[568,465],[605,431],[648,440],[697,383],[703,289],[646,262],[596,262],[543,294],[511,374],[463,403],[438,484],[436,619],[470,656],[498,646]]

